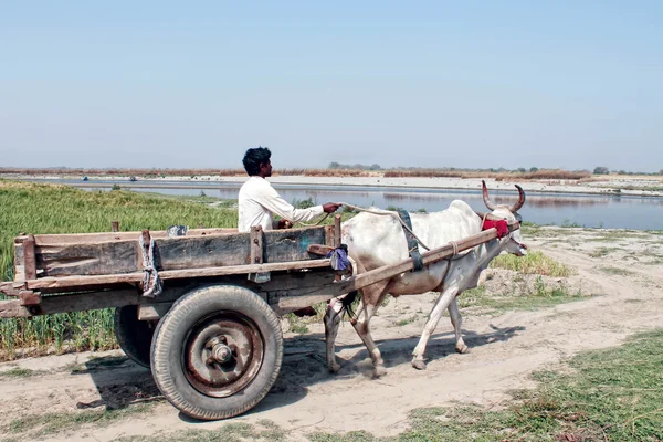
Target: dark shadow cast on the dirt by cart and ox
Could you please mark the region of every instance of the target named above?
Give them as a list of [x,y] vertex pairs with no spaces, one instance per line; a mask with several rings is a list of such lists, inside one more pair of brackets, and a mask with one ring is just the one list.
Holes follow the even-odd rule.
[[[487,334],[463,332],[465,343],[470,347],[481,347],[514,337],[525,327],[493,327]],[[386,367],[410,364],[412,349],[419,336],[378,340]],[[454,334],[441,333],[431,337],[427,356],[430,360],[445,357],[454,351]],[[298,402],[308,393],[308,387],[319,382],[338,379],[352,379],[357,376],[370,377],[372,366],[361,343],[337,346],[337,352],[354,352],[348,360],[340,360],[341,370],[336,375],[327,371],[325,360],[325,341],[323,334],[308,334],[285,340],[285,351],[281,375],[267,397],[249,413],[256,413],[273,408],[285,407]],[[80,409],[117,410],[134,403],[164,400],[157,389],[149,369],[134,364],[125,356],[95,358],[82,367],[72,370],[73,376],[92,377],[99,399],[92,402],[78,402]],[[180,419],[189,423],[200,422],[180,413]]]

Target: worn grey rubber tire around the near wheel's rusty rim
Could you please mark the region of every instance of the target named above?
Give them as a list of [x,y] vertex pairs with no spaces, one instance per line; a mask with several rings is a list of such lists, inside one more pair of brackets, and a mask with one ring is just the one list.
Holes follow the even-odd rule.
[[[255,378],[228,398],[212,398],[193,388],[181,364],[187,334],[201,318],[219,311],[238,312],[262,334],[264,356]],[[196,419],[218,420],[242,414],[270,391],[281,370],[283,335],[276,314],[260,296],[235,285],[199,287],[178,299],[157,326],[151,345],[151,371],[168,401]]]

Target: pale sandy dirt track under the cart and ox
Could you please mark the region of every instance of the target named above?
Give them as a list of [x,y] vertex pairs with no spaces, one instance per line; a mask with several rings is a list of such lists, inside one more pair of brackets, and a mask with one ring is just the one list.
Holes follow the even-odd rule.
[[[434,294],[390,299],[371,323],[388,369],[379,380],[370,378],[370,360],[348,323],[338,337],[343,368],[329,375],[320,358],[324,329],[314,325],[306,335],[286,335],[284,366],[275,387],[254,410],[231,421],[271,420],[294,441],[307,440],[316,431],[394,435],[407,429],[412,409],[456,401],[498,404],[509,398],[509,390],[532,387],[534,370],[555,368],[578,352],[619,345],[633,333],[663,324],[663,235],[541,228],[526,241],[530,249],[577,269],[569,284],[591,296],[496,316],[466,312],[464,336],[472,348],[467,355],[453,352],[452,327],[443,318],[429,344],[425,371],[410,366],[410,354]],[[493,291],[505,281],[494,277],[488,284]],[[409,317],[413,318],[410,324],[397,324]],[[42,372],[23,379],[0,376],[0,428],[40,413],[127,404],[130,409],[136,402],[156,400],[147,414],[110,425],[85,424],[41,439],[29,433],[17,434],[18,439],[113,441],[185,429],[212,430],[228,422],[192,422],[181,415],[159,399],[149,371],[118,351],[6,362],[0,373],[15,367]]]

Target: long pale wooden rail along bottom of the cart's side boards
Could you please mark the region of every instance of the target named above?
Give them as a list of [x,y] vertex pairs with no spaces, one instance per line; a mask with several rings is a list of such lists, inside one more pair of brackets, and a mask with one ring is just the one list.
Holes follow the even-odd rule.
[[[295,271],[302,269],[329,267],[329,260],[306,260],[282,263],[266,263],[256,265],[228,265],[222,267],[187,269],[177,271],[159,272],[161,280],[178,280],[190,277],[211,277],[224,275],[238,275],[260,272]],[[123,283],[137,283],[143,281],[143,272],[118,275],[92,275],[92,276],[60,276],[43,277],[28,281],[30,290],[39,288],[74,288],[77,286],[110,285]]]

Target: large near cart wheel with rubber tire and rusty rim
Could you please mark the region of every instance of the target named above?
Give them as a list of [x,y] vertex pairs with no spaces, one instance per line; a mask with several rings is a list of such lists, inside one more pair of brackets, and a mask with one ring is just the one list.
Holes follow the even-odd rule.
[[157,326],[151,370],[183,413],[227,419],[255,407],[283,359],[276,314],[248,288],[213,285],[189,292]]

